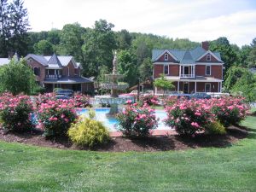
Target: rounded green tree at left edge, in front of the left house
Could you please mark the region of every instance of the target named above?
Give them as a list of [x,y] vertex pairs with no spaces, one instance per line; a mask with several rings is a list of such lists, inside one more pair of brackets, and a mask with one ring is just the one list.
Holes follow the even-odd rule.
[[13,58],[8,65],[0,67],[0,90],[8,90],[14,95],[21,92],[31,94],[36,87],[32,68],[24,59]]

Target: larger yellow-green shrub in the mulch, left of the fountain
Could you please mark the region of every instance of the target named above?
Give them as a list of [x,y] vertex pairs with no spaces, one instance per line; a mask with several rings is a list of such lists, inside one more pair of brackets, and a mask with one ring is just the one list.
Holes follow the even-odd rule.
[[109,140],[108,129],[102,122],[86,117],[80,119],[78,123],[72,124],[67,134],[73,143],[90,148]]

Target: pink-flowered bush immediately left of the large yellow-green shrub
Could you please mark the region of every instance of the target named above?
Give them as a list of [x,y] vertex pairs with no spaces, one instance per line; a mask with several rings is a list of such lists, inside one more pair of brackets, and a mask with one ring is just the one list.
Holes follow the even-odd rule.
[[77,118],[73,99],[49,100],[38,107],[38,121],[46,137],[67,136],[68,128]]

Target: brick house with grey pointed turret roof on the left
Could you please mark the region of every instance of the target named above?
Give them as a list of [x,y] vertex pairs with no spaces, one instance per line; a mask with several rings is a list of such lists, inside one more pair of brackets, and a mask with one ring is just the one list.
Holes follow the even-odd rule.
[[93,81],[81,76],[82,66],[73,56],[43,56],[29,54],[25,57],[32,67],[38,84],[52,92],[55,88],[92,93]]

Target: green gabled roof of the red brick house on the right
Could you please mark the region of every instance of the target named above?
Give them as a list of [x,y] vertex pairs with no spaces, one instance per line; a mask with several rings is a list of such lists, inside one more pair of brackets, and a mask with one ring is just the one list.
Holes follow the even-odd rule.
[[[177,58],[179,63],[188,63],[188,64],[195,64],[202,55],[206,55],[209,51],[203,49],[201,47],[196,47],[195,49],[191,50],[177,50],[177,49],[153,49],[152,50],[152,61],[158,60],[161,55],[165,54],[166,51],[170,52]],[[218,59],[218,61],[223,62],[221,60],[219,52],[212,52],[210,53]]]

